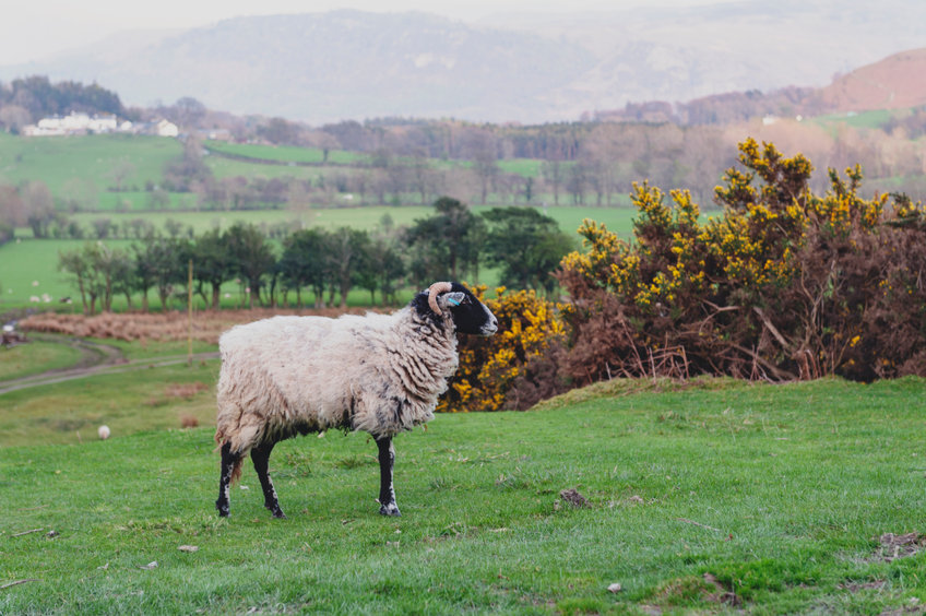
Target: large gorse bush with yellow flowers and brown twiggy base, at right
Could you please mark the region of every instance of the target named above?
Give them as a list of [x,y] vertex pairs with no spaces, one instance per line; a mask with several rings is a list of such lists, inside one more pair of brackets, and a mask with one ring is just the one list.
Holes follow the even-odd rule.
[[926,224],[902,196],[864,199],[862,173],[753,140],[701,222],[687,191],[634,185],[633,242],[585,221],[558,277],[571,303],[561,372],[578,382],[692,374],[868,380],[926,374]]

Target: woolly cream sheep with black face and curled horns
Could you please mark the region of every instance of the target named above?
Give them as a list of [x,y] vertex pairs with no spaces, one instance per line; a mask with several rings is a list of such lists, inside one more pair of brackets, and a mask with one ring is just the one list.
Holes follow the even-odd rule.
[[268,474],[276,442],[330,428],[370,434],[379,450],[379,512],[401,516],[392,486],[392,438],[434,418],[456,371],[456,333],[488,336],[498,319],[459,283],[438,282],[392,315],[272,317],[219,339],[215,442],[221,517],[245,455],[264,507],[285,518]]

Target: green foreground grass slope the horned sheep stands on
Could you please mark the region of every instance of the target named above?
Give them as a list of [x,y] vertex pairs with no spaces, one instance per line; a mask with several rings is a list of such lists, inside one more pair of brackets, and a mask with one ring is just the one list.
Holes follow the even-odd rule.
[[[921,545],[879,540],[923,531],[919,379],[614,381],[527,413],[441,415],[396,439],[397,519],[377,513],[364,435],[311,436],[271,459],[288,519],[246,467],[219,520],[211,429],[176,429],[212,392],[164,393],[214,375],[0,396],[0,434],[20,426],[0,448],[0,613],[905,614],[926,600]],[[84,417],[83,443],[39,445],[46,412],[68,433]],[[112,438],[92,437],[98,423]]]

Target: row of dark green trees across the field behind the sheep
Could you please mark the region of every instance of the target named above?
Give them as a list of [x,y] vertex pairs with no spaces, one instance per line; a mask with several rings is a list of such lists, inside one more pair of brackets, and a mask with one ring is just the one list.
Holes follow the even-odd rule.
[[62,251],[59,269],[72,280],[87,315],[111,310],[119,296],[129,309],[140,296],[140,309],[147,311],[151,292],[162,310],[170,308],[178,293],[186,297],[190,291],[217,309],[228,283],[238,285],[249,307],[304,307],[311,295],[314,307],[343,308],[356,287],[370,293],[370,304],[379,294],[380,304],[394,305],[396,292],[408,285],[478,281],[486,266],[497,269],[504,285],[553,293],[550,272],[573,244],[556,221],[527,208],[476,215],[450,198],[437,200],[434,208],[434,215],[408,227],[395,227],[387,216],[373,232],[308,228],[278,241],[240,223],[200,236],[147,229],[128,249],[91,241]]

